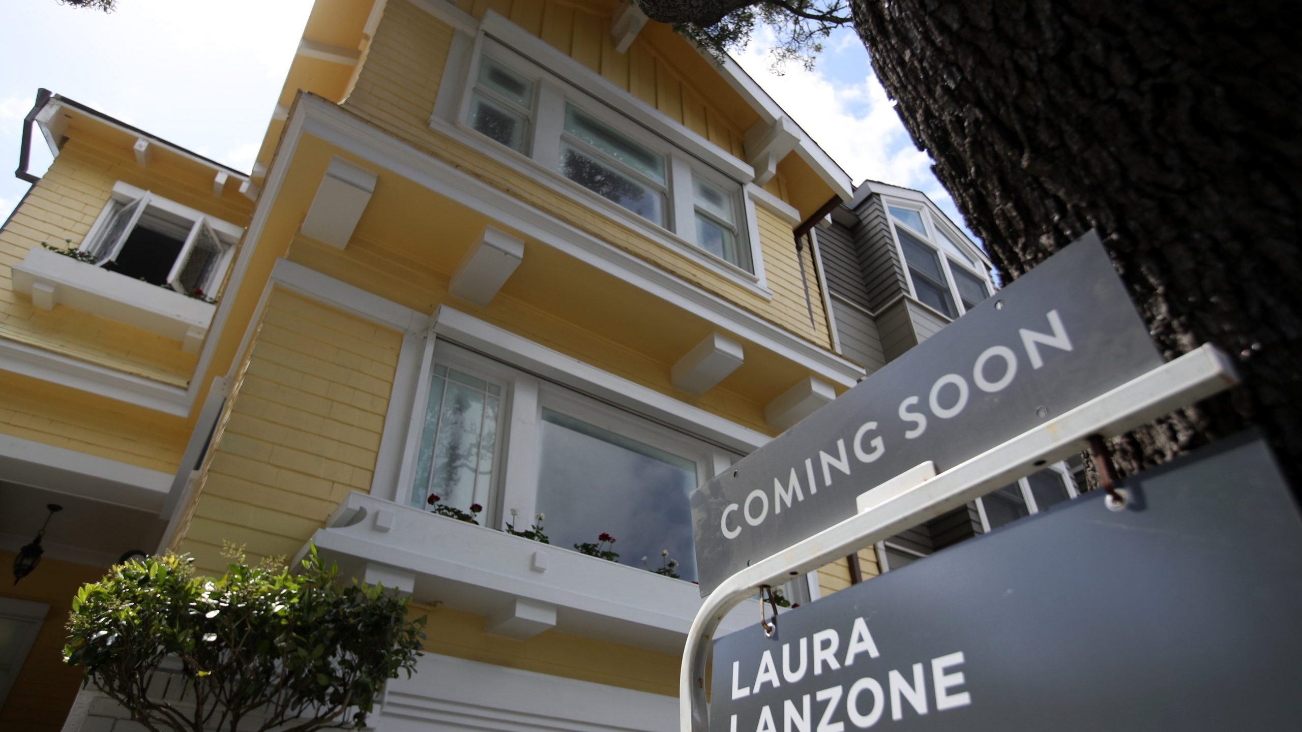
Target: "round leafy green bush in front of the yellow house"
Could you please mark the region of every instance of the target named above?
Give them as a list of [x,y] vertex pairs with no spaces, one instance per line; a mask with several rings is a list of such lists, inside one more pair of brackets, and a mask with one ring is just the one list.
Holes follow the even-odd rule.
[[[408,599],[340,584],[315,547],[297,574],[230,557],[216,580],[185,555],[113,567],[78,590],[64,660],[155,732],[234,732],[250,718],[286,732],[362,727],[384,681],[410,677],[424,617],[406,619]],[[169,658],[186,677],[181,707],[146,693]]]

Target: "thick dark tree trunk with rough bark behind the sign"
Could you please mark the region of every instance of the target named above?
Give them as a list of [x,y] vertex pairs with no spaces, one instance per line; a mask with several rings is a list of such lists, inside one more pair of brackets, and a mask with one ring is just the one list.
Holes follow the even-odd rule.
[[914,142],[1017,277],[1090,228],[1168,358],[1242,387],[1113,440],[1122,473],[1256,425],[1302,462],[1302,43],[1284,3],[853,0]]

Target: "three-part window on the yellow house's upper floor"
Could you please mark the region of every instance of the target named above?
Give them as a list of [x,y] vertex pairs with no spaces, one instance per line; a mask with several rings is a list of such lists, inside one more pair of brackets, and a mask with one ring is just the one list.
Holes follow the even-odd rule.
[[487,36],[471,66],[456,112],[465,128],[526,155],[568,194],[673,234],[729,275],[760,279],[742,185],[724,168]]

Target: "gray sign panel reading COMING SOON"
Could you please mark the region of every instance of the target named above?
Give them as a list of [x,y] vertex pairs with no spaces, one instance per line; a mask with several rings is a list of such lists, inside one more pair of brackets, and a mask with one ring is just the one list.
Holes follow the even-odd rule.
[[1163,363],[1092,232],[691,494],[704,597],[837,524],[855,498],[936,470]]

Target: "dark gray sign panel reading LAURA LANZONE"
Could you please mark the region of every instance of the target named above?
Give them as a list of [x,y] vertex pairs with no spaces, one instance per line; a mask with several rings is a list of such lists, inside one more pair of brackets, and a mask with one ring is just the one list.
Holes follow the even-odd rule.
[[1302,520],[1267,448],[1129,485],[720,638],[711,731],[1297,729]]

